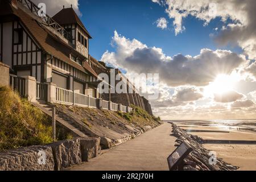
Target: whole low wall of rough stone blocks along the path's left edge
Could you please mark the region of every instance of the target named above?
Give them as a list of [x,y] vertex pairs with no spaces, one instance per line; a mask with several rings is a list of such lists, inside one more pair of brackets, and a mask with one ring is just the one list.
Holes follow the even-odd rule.
[[100,153],[100,138],[77,138],[0,152],[0,171],[59,171]]

